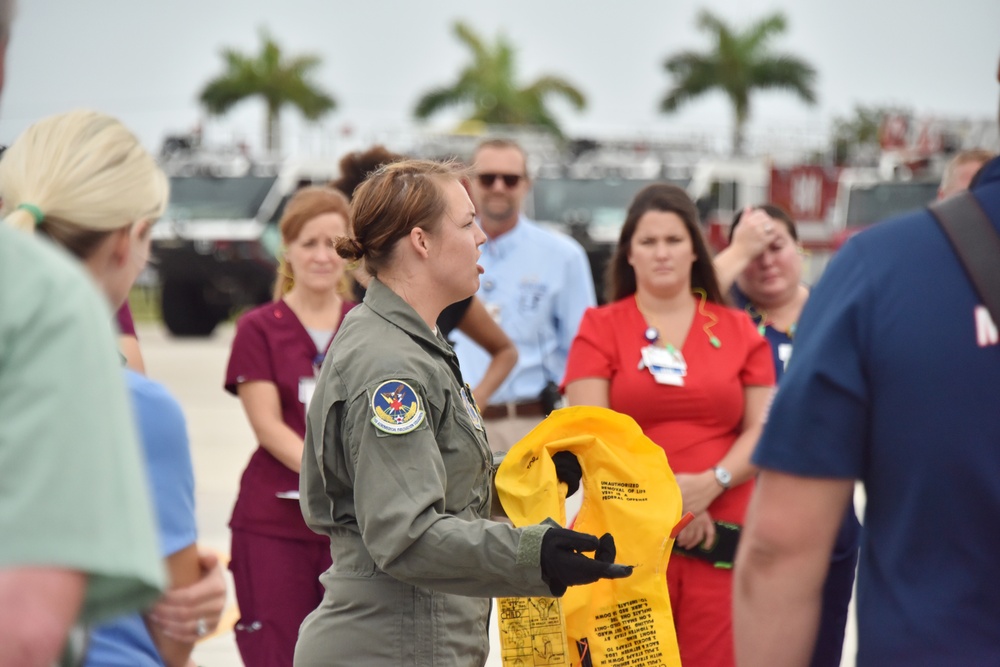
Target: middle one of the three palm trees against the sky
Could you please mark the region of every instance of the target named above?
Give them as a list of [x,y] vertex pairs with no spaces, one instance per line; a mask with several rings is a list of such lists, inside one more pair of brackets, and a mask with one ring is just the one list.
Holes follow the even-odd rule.
[[517,83],[514,49],[500,35],[494,44],[486,43],[465,23],[454,25],[455,36],[472,52],[472,62],[458,80],[447,87],[425,93],[413,115],[425,119],[445,107],[472,104],[468,120],[504,125],[537,125],[561,136],[559,124],[546,108],[551,96],[562,97],[576,109],[587,101],[573,84],[555,76],[542,76],[521,88]]

